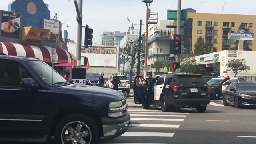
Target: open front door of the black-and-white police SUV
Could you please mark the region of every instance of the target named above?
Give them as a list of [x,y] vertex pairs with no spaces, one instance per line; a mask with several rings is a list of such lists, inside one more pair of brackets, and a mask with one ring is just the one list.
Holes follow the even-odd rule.
[[135,104],[145,104],[148,102],[146,93],[148,90],[148,83],[140,85],[139,79],[142,78],[144,82],[146,80],[142,76],[136,76],[134,78],[133,92],[134,92],[134,103]]

